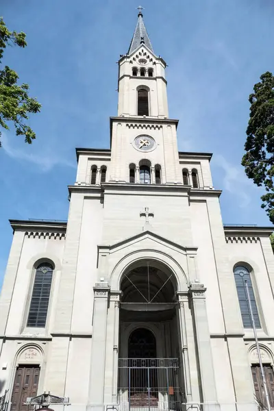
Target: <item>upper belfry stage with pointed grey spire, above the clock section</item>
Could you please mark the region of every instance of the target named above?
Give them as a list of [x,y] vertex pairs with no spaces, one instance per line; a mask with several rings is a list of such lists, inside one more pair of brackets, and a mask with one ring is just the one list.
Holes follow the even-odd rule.
[[134,36],[126,55],[119,60],[119,116],[169,116],[166,63],[156,57],[139,11]]

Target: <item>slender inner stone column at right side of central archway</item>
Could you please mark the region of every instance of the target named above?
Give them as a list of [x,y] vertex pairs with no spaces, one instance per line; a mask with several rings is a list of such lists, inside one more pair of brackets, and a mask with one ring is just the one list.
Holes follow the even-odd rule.
[[190,365],[188,358],[188,338],[186,331],[186,314],[185,306],[188,307],[188,295],[186,293],[177,292],[178,295],[178,317],[179,317],[179,333],[181,335],[181,351],[183,359],[183,373],[184,373],[184,384],[186,392],[186,401],[192,401],[192,390],[191,390],[191,379],[190,379]]

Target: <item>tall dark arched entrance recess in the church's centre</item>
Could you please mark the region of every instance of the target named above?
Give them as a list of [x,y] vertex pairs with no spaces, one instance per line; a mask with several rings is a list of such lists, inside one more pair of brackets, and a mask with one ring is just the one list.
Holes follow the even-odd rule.
[[179,410],[184,382],[175,275],[162,262],[140,260],[123,273],[121,291],[121,406]]

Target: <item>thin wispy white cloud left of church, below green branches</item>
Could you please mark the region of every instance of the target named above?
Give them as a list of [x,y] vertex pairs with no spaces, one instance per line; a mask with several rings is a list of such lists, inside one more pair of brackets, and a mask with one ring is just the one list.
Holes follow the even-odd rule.
[[10,158],[14,158],[22,162],[30,162],[36,164],[42,172],[46,173],[57,165],[75,169],[75,164],[73,164],[66,158],[62,158],[56,155],[56,153],[54,153],[53,151],[49,153],[43,153],[41,158],[41,155],[38,153],[27,153],[24,149],[12,147],[4,133],[1,136],[1,140],[3,146],[2,149]]

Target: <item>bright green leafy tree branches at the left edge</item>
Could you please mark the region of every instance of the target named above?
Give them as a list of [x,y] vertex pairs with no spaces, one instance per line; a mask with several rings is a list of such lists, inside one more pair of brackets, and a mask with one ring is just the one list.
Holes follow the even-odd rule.
[[[25,33],[10,32],[3,18],[0,18],[0,126],[9,129],[8,121],[14,124],[16,136],[25,136],[25,142],[31,144],[36,134],[25,121],[29,113],[40,112],[41,105],[29,97],[27,84],[17,84],[18,75],[9,66],[2,67],[3,53],[7,46],[26,47]],[[1,131],[0,131],[1,147]]]

